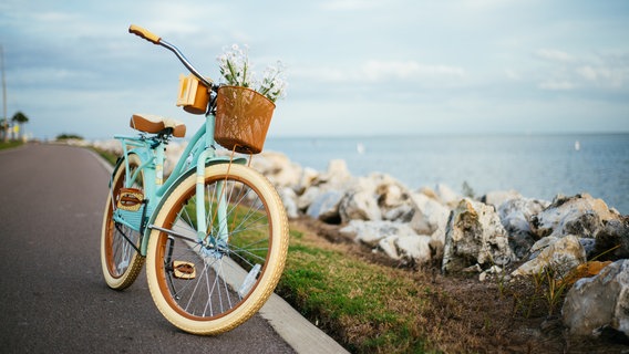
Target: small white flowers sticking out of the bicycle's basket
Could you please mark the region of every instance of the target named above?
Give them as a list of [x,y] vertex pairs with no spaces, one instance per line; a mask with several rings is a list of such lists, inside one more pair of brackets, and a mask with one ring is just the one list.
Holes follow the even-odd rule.
[[238,44],[225,50],[217,58],[220,75],[231,86],[243,86],[257,91],[271,102],[286,96],[285,66],[278,61],[276,65],[269,65],[258,80],[249,63],[248,49],[241,49]]

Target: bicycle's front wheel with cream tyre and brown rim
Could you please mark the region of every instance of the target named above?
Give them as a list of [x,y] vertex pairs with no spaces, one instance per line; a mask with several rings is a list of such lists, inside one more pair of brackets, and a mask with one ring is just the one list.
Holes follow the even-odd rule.
[[288,219],[272,185],[251,168],[206,167],[207,230],[198,230],[197,176],[164,199],[148,241],[146,275],[155,304],[194,334],[230,331],[275,290],[288,250]]

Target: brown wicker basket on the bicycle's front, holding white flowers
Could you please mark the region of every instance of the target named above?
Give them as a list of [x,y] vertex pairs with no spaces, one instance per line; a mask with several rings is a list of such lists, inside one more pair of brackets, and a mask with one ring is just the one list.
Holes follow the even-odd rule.
[[262,150],[275,104],[254,90],[221,86],[216,98],[214,139],[241,154]]

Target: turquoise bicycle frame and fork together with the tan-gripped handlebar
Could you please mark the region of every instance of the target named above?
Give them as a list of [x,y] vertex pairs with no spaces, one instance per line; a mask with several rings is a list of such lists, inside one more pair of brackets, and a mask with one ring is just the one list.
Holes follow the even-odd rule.
[[[162,45],[168,49],[169,51],[172,51],[184,64],[184,66],[186,66],[186,69],[188,69],[188,71],[193,73],[206,87],[210,88],[214,92],[217,92],[218,86],[215,85],[212,82],[212,80],[204,77],[175,45],[162,40],[159,37],[155,35],[154,33],[151,33],[136,25],[131,25],[128,31],[154,44]],[[227,241],[227,225],[225,221],[226,201],[225,201],[225,196],[223,196],[221,191],[219,192],[219,199],[217,206],[217,216],[218,220],[220,220],[218,225],[218,235],[209,237],[207,235],[208,228],[205,219],[205,190],[204,190],[205,168],[208,165],[221,164],[221,163],[245,164],[246,159],[241,157],[234,158],[233,156],[219,157],[216,155],[216,148],[214,142],[214,129],[216,122],[214,115],[214,110],[215,110],[214,104],[215,102],[208,103],[208,110],[205,115],[206,117],[205,124],[202,125],[199,129],[195,133],[195,135],[188,143],[188,146],[185,148],[184,153],[182,154],[182,157],[179,158],[173,171],[165,181],[163,178],[163,169],[165,160],[164,152],[169,135],[167,136],[156,135],[147,137],[143,133],[140,135],[140,137],[114,136],[116,139],[121,140],[123,146],[122,160],[116,166],[116,170],[117,168],[125,168],[124,188],[132,188],[136,184],[142,173],[144,200],[142,200],[143,206],[140,207],[140,209],[136,211],[121,210],[121,208],[114,209],[113,219],[116,222],[121,222],[124,226],[142,233],[142,242],[140,249],[137,249],[137,247],[130,241],[132,247],[134,247],[142,256],[146,256],[146,249],[148,247],[148,235],[151,233],[152,229],[149,222],[155,218],[154,211],[158,209],[159,204],[162,202],[164,197],[168,195],[168,191],[173,189],[175,186],[177,186],[177,181],[181,178],[187,177],[193,169],[196,169],[196,176],[197,176],[196,241],[205,246],[207,246],[207,242],[216,243],[217,241],[224,241],[224,242]],[[132,148],[130,149],[128,147]],[[137,157],[141,160],[141,166],[138,166],[137,170],[133,175],[131,175],[131,169],[128,164],[128,156],[131,154],[137,155]],[[115,176],[115,171],[114,175],[112,175],[112,178],[113,176]],[[221,189],[220,183],[218,183],[218,186],[219,186],[218,189]],[[110,196],[110,198],[112,198],[112,206],[115,206],[116,204],[113,195]],[[166,232],[169,232],[172,236],[175,237],[182,237],[173,233],[172,231],[166,231]]]

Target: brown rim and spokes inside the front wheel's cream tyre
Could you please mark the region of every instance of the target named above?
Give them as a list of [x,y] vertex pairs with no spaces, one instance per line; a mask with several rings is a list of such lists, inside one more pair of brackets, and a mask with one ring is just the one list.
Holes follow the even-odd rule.
[[[171,309],[193,321],[216,320],[240,308],[262,282],[272,248],[272,223],[259,190],[234,176],[214,176],[206,180],[205,195],[209,237],[196,241],[196,194],[190,188],[163,225],[192,241],[162,232],[156,248],[159,291]],[[219,239],[221,196],[227,199],[226,241]],[[244,285],[247,275],[251,282]]]

